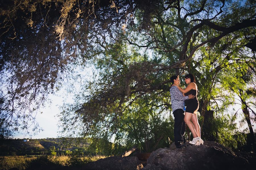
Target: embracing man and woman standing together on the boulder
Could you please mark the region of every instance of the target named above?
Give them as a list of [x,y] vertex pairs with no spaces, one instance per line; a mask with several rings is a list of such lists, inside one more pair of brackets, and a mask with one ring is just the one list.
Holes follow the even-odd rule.
[[[200,134],[200,126],[197,119],[197,110],[199,102],[197,100],[197,84],[192,74],[185,76],[187,88],[179,87],[179,76],[171,77],[172,87],[170,88],[172,112],[174,114],[174,140],[176,148],[186,146],[184,137],[186,124],[193,134],[193,140],[189,141],[191,145],[203,144]],[[186,108],[185,108],[186,106]],[[185,111],[185,115],[184,115]]]

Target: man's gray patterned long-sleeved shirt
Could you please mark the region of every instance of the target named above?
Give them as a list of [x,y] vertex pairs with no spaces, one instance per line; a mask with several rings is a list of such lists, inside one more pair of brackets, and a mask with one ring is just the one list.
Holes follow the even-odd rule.
[[189,99],[188,96],[183,96],[181,91],[177,88],[177,86],[172,86],[170,88],[171,94],[171,103],[172,103],[172,112],[177,109],[182,109],[184,111],[185,100]]

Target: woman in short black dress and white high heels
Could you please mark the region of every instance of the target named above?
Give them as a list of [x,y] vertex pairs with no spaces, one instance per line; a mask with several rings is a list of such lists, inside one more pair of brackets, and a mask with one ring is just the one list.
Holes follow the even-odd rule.
[[200,126],[197,120],[197,111],[199,108],[199,102],[196,97],[197,84],[195,83],[195,77],[192,74],[187,74],[185,76],[185,82],[186,84],[188,84],[185,90],[177,86],[176,84],[174,86],[177,86],[179,91],[181,91],[186,96],[189,94],[195,95],[195,98],[185,100],[186,110],[184,121],[193,134],[193,140],[189,143],[192,145],[200,145],[203,144],[203,140],[201,139]]

